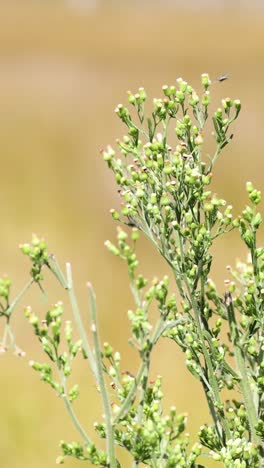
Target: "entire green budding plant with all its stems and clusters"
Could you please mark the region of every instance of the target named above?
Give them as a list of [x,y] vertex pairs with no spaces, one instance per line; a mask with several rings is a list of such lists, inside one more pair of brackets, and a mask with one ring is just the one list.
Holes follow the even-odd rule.
[[[247,182],[249,204],[233,218],[232,206],[210,189],[215,163],[233,138],[230,128],[241,104],[227,97],[211,114],[213,87],[208,74],[201,76],[201,86],[199,93],[182,78],[175,85],[163,86],[163,96],[153,100],[149,116],[144,88],[135,94],[129,91],[131,108],[122,104],[116,108],[127,128],[126,135],[117,140],[118,153],[110,146],[102,152],[122,199],[120,212],[112,209],[111,215],[131,228],[129,235],[119,226],[116,244],[108,240],[105,245],[125,261],[128,270],[135,303],[128,311],[129,343],[140,361],[133,373],[122,369],[120,353],[111,344],[101,345],[91,284],[87,283],[88,336],[70,264],[66,264],[64,276],[56,258],[48,255],[45,241],[35,235],[30,244],[21,246],[32,263],[29,286],[34,282],[40,285],[43,266],[47,266],[69,294],[80,335],[79,340],[73,340],[72,324],[63,320],[61,302],[48,310],[44,320],[30,307],[25,310],[49,358],[48,363],[31,361],[31,366],[62,398],[82,439],[62,441],[62,456],[57,463],[71,456],[92,465],[119,468],[119,446],[130,453],[133,466],[203,468],[200,456],[204,455],[227,468],[258,468],[263,464],[264,248],[258,246],[257,239],[262,222],[257,211],[261,193]],[[215,151],[204,160],[205,125],[210,121]],[[229,276],[223,293],[210,276],[211,247],[216,238],[233,229],[240,233],[248,260],[237,262],[234,269],[227,267]],[[140,231],[166,260],[170,285],[168,275],[148,281],[138,273],[136,243]],[[6,317],[7,327],[14,306],[28,288],[10,305],[10,284],[10,280],[0,279],[0,316]],[[9,328],[7,333],[11,333]],[[185,432],[186,415],[178,414],[175,407],[168,415],[163,413],[162,379],[158,376],[153,380],[151,376],[153,349],[161,338],[172,340],[183,351],[187,369],[204,390],[212,423],[200,428],[199,442],[194,445]],[[66,386],[72,362],[80,351],[102,401],[102,422],[96,422],[94,428],[105,440],[104,450],[90,439],[73,410],[78,385],[70,390]],[[232,392],[226,399],[228,391]]]

